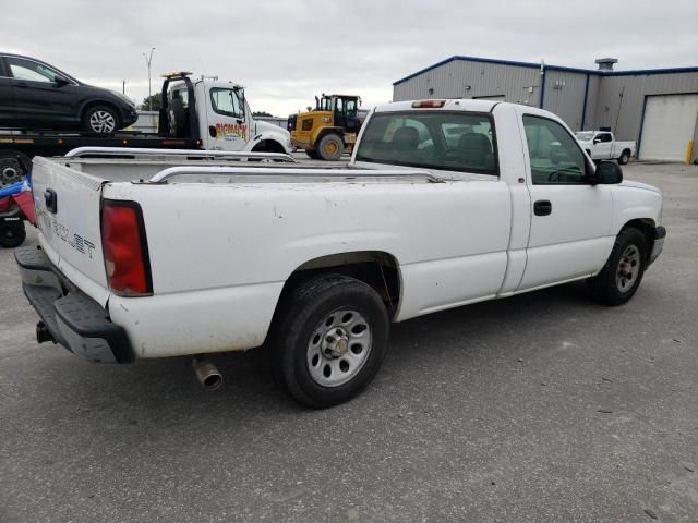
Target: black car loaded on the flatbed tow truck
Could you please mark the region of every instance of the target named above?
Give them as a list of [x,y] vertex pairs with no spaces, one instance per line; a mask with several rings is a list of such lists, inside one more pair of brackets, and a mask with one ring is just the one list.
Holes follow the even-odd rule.
[[0,53],[0,127],[110,134],[139,115],[121,95],[19,54]]

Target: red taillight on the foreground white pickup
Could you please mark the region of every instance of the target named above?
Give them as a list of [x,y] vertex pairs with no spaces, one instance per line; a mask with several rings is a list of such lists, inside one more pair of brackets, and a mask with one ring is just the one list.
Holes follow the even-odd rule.
[[141,207],[135,202],[105,200],[101,251],[109,288],[124,296],[151,294],[151,263]]

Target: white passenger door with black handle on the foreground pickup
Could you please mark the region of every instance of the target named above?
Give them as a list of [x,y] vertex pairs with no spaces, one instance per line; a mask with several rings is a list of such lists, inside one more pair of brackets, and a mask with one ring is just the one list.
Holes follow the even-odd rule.
[[[531,231],[518,291],[590,276],[613,246],[613,200],[607,185],[590,185],[583,153],[554,120],[522,115],[528,145]],[[551,158],[555,143],[555,160]],[[562,153],[562,158],[561,158]]]

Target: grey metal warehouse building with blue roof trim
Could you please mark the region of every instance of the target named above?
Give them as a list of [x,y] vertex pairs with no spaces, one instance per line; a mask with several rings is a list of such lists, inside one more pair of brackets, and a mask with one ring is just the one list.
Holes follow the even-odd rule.
[[393,84],[393,100],[488,98],[541,107],[574,131],[606,129],[635,139],[638,157],[698,158],[698,66],[614,71],[452,57]]

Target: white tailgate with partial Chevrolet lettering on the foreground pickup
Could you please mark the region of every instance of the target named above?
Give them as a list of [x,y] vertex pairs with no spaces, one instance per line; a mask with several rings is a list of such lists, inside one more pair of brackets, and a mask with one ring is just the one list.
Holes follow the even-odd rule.
[[49,259],[105,306],[109,290],[99,229],[105,180],[35,158],[32,183],[39,241]]

